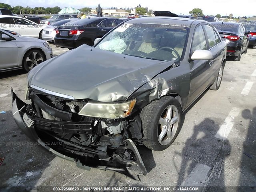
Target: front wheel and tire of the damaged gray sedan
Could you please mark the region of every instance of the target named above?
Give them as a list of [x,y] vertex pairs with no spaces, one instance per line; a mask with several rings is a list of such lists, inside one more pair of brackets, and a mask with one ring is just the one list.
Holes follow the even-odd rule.
[[142,109],[143,143],[154,151],[168,148],[181,129],[182,109],[178,100],[165,96]]

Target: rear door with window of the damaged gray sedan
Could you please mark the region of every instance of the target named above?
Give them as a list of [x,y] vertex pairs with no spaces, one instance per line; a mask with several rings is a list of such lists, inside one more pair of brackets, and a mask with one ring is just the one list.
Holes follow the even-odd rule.
[[209,61],[211,69],[208,71],[208,85],[210,85],[210,83],[212,83],[213,80],[215,79],[222,64],[222,58],[225,47],[221,44],[222,41],[220,40],[217,32],[214,30],[214,28],[212,28],[212,26],[204,24],[203,27],[206,34],[208,50],[213,55],[213,60]]

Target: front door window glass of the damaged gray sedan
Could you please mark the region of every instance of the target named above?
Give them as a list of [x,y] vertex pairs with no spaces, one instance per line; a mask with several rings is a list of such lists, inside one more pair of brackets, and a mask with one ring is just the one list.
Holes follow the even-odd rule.
[[192,43],[192,52],[198,49],[207,50],[204,30],[201,25],[196,27],[196,31],[195,31],[194,39]]

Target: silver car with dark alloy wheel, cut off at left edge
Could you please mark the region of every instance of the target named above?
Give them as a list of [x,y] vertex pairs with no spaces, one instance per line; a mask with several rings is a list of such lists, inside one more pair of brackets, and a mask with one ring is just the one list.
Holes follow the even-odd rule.
[[37,38],[13,35],[0,29],[0,72],[34,66],[52,57],[47,42]]

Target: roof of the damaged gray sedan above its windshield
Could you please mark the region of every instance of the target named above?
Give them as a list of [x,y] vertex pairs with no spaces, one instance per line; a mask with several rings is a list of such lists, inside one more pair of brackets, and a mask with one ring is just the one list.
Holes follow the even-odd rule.
[[186,25],[188,27],[193,22],[196,22],[196,24],[198,24],[198,23],[207,22],[207,21],[195,20],[190,18],[182,18],[182,17],[140,17],[140,18],[132,18],[126,21],[126,23],[171,24],[171,25],[182,25],[182,26]]

